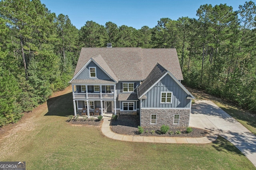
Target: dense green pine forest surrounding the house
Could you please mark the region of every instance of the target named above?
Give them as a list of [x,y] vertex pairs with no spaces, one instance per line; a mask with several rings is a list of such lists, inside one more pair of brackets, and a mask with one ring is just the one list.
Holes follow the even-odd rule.
[[0,126],[45,102],[69,84],[81,47],[176,48],[183,84],[256,110],[256,7],[202,5],[197,19],[161,18],[153,28],[87,21],[77,29],[68,16],[40,0],[0,2]]

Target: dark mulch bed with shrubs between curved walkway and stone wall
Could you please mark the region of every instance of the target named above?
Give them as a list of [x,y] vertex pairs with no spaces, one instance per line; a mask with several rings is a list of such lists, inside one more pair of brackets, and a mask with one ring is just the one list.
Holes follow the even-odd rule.
[[[158,137],[204,137],[208,134],[207,130],[192,128],[191,133],[186,133],[186,127],[173,128],[170,127],[170,131],[173,134],[160,134],[160,128],[144,128],[144,133],[138,133],[138,126],[140,125],[139,115],[119,115],[117,120],[111,120],[110,129],[119,134],[124,135],[140,135],[140,136],[158,136]],[[151,132],[154,131],[152,134]],[[180,131],[181,134],[175,134],[176,131]]]

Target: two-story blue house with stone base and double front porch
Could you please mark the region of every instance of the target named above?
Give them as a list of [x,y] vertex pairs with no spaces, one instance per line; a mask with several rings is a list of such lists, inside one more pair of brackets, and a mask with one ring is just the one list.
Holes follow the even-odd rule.
[[74,115],[140,114],[142,127],[189,124],[192,94],[176,49],[82,48],[74,77]]

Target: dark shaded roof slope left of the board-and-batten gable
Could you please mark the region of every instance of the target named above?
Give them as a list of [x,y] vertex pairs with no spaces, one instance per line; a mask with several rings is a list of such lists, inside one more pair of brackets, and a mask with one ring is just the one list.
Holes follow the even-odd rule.
[[153,84],[155,84],[167,70],[159,63],[152,69],[147,78],[138,86],[138,97],[142,96]]

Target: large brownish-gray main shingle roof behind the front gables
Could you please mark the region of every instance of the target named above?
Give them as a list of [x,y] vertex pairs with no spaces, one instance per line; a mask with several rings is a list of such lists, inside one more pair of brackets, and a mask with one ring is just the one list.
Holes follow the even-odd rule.
[[118,80],[144,80],[156,63],[183,80],[176,49],[82,48],[74,75],[97,55],[101,55]]

